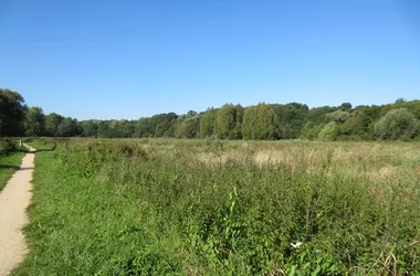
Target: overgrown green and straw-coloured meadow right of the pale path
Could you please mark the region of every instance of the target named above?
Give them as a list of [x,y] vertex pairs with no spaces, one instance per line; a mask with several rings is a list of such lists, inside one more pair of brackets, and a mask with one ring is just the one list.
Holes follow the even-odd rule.
[[414,275],[420,144],[40,139],[14,275]]

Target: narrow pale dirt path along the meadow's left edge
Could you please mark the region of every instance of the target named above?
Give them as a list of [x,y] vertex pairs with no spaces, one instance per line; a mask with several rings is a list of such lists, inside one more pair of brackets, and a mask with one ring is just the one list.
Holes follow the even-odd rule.
[[0,192],[0,276],[9,275],[28,252],[22,227],[29,221],[27,208],[32,197],[34,159],[33,152],[27,153],[20,169]]

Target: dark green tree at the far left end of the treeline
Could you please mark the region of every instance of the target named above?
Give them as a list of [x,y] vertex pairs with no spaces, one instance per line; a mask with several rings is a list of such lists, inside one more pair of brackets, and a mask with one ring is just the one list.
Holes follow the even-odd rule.
[[0,136],[23,135],[24,112],[24,99],[19,93],[0,88]]

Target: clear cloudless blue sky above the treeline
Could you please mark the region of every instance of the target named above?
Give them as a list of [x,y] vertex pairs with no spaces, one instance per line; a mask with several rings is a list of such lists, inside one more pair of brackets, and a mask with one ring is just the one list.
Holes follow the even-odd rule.
[[0,87],[45,114],[420,98],[419,0],[0,0]]

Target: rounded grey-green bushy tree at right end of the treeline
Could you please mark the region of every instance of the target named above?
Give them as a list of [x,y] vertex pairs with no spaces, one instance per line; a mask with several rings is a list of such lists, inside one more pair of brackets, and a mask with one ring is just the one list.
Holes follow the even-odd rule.
[[408,140],[418,131],[418,120],[407,108],[388,112],[375,125],[375,135],[382,140]]

